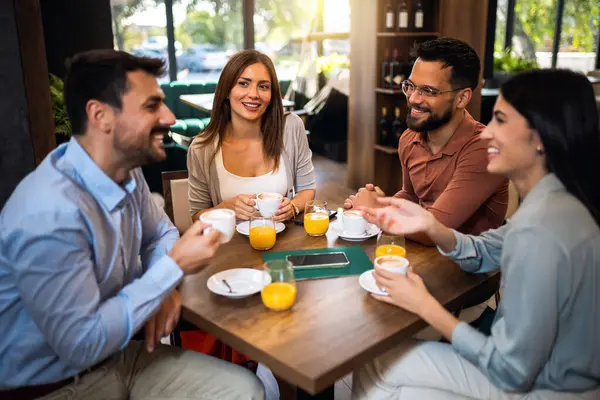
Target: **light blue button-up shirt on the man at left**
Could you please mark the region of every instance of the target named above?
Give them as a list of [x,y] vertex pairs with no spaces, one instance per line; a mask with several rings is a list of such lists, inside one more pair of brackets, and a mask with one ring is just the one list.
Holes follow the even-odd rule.
[[183,277],[177,238],[139,169],[119,185],[75,139],[50,153],[0,214],[0,390],[126,346]]

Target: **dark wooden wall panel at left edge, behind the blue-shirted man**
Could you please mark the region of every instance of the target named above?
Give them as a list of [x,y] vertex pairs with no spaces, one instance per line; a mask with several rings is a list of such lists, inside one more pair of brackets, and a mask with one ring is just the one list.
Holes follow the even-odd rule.
[[0,1],[0,208],[54,148],[38,0]]

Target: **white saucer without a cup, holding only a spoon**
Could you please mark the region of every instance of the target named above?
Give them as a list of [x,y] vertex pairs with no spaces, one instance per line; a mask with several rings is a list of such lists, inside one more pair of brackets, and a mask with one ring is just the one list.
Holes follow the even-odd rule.
[[[229,293],[223,279],[227,280],[233,293]],[[260,292],[269,283],[271,283],[271,277],[264,271],[252,268],[236,268],[214,274],[208,278],[206,286],[215,294],[232,299],[241,299]]]

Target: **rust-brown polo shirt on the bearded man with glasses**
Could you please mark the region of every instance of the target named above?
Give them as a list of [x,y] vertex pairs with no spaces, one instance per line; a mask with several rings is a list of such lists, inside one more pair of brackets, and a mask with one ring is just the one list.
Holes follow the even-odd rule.
[[[406,130],[398,154],[404,198],[429,210],[438,221],[460,232],[478,235],[502,225],[508,206],[508,180],[487,172],[485,125],[465,111],[448,143],[432,154],[424,135]],[[415,237],[424,244],[428,238]]]

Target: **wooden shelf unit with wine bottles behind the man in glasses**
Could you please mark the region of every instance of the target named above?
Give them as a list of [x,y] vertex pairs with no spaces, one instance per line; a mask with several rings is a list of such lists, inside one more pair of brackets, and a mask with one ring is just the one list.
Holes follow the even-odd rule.
[[[385,48],[400,51],[400,61],[414,42],[435,37],[451,37],[470,44],[483,61],[485,56],[488,0],[427,0],[431,1],[433,22],[425,23],[421,31],[385,32],[385,7],[395,0],[350,0],[352,7],[350,41],[350,98],[348,101],[348,178],[347,185],[358,189],[366,183],[380,183],[386,192],[393,193],[401,185],[402,171],[397,152],[384,151],[379,145],[378,121],[385,104],[405,101],[398,90],[381,87],[381,63]],[[409,6],[414,0],[408,0]],[[495,4],[495,3],[493,3]],[[397,10],[394,9],[396,13]],[[425,20],[427,13],[425,11]],[[409,9],[409,16],[412,16]],[[397,18],[397,15],[396,15]],[[409,18],[412,25],[412,17]],[[482,66],[483,69],[483,66]],[[481,87],[473,92],[467,110],[480,118]],[[391,108],[388,116],[393,116]],[[385,148],[385,146],[384,146]],[[366,149],[366,151],[365,151]]]

